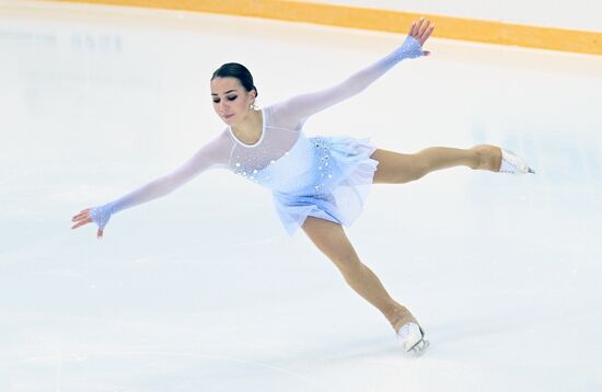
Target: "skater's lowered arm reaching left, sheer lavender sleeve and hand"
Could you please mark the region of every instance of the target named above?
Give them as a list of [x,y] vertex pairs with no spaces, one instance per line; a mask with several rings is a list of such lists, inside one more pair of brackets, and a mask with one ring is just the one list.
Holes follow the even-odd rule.
[[102,238],[104,228],[113,214],[165,196],[204,171],[225,164],[230,148],[231,140],[225,132],[222,132],[173,172],[153,180],[116,200],[81,210],[71,219],[76,222],[71,229],[94,222],[99,227],[96,237]]

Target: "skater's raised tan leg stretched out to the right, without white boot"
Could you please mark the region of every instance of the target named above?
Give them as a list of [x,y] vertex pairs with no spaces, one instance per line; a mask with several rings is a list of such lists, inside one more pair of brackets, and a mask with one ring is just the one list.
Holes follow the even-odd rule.
[[489,145],[471,149],[431,147],[413,154],[378,149],[371,158],[379,161],[374,184],[403,184],[436,170],[461,165],[497,172],[501,164],[501,149]]

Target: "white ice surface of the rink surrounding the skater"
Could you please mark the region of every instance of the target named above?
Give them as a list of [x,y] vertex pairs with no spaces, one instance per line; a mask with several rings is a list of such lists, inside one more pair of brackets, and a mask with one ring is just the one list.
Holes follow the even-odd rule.
[[302,232],[288,238],[265,189],[225,171],[116,215],[102,241],[69,229],[223,129],[221,64],[245,64],[267,105],[403,36],[0,4],[0,390],[601,390],[602,58],[436,35],[430,58],[305,125],[404,152],[499,143],[537,171],[372,189],[348,234],[422,323],[415,359]]

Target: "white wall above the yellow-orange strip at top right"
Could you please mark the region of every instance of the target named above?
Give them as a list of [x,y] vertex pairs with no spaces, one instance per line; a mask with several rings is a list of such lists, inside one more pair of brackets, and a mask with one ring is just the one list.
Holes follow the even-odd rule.
[[313,2],[602,32],[601,0],[316,0]]

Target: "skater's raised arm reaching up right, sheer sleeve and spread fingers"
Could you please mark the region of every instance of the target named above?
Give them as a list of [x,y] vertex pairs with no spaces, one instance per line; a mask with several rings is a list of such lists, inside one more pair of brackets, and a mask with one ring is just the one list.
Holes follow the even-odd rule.
[[288,124],[303,122],[309,116],[363,91],[403,59],[428,56],[430,53],[424,51],[422,45],[433,28],[435,24],[431,25],[430,21],[424,23],[424,19],[420,19],[420,21],[414,22],[403,45],[384,58],[354,73],[334,87],[300,94],[276,104],[275,106],[279,116],[281,116],[280,118],[283,118]]

